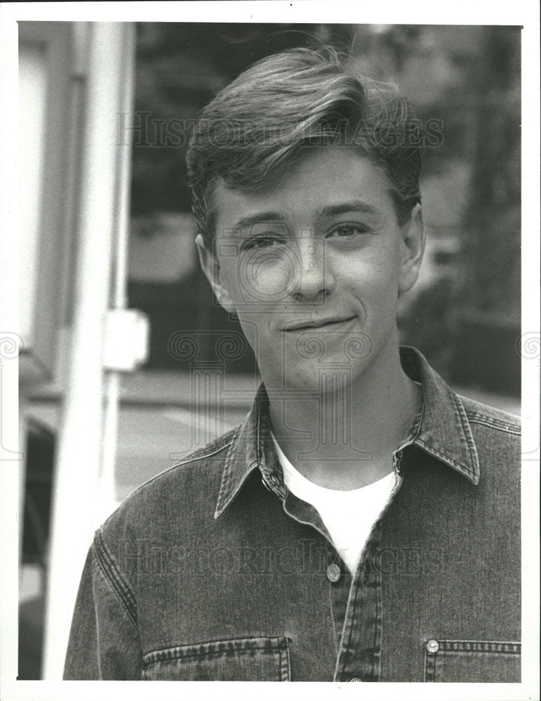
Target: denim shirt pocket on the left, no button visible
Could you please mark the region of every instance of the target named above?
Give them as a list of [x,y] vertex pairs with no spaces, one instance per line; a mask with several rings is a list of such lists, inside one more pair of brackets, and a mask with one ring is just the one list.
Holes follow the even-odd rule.
[[146,681],[290,681],[289,639],[236,638],[144,655]]

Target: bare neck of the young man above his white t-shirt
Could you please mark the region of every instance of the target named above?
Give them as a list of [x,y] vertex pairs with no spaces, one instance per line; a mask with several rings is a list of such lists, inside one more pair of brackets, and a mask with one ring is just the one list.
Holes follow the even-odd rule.
[[289,461],[329,489],[357,489],[392,470],[392,453],[420,405],[420,388],[402,370],[398,343],[362,374],[320,375],[313,398],[270,397],[270,423]]

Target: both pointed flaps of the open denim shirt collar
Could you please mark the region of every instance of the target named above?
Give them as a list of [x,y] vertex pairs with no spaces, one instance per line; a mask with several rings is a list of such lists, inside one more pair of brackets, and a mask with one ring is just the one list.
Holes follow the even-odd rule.
[[[401,447],[414,444],[467,477],[472,484],[478,484],[479,458],[460,397],[416,348],[402,346],[400,361],[404,372],[423,388],[420,411]],[[285,496],[282,470],[270,435],[268,397],[263,384],[228,449],[214,518],[221,516],[256,468],[268,489]]]

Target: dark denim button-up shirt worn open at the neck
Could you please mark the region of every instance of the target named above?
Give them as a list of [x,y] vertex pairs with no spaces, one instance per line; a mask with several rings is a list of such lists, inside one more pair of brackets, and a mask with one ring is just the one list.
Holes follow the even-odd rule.
[[261,387],[98,529],[64,679],[520,681],[519,423],[401,360],[423,402],[354,576],[283,484]]

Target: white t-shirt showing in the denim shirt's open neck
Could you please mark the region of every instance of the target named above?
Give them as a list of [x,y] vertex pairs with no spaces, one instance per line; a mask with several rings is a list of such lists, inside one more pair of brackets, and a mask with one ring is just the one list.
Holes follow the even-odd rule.
[[372,526],[389,501],[395,486],[395,472],[391,470],[377,482],[360,489],[327,489],[301,475],[286,458],[274,436],[273,442],[282,465],[285,486],[317,509],[336,550],[353,573]]

